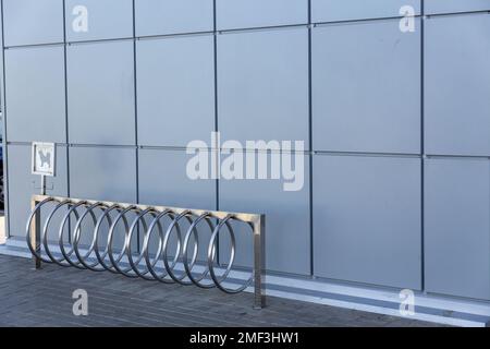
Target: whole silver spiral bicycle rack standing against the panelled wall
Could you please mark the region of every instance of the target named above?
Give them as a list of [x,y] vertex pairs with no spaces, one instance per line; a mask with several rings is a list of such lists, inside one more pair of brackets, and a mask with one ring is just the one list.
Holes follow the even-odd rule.
[[[49,208],[53,207],[48,213],[41,214],[41,208],[48,204],[50,204]],[[57,212],[63,215],[58,230],[59,254],[61,254],[59,257],[50,250],[48,241],[48,230],[54,226],[52,218]],[[97,216],[97,213],[100,215]],[[127,218],[130,214],[132,217],[136,216],[131,224]],[[113,218],[114,215],[115,218]],[[75,221],[70,221],[72,216],[75,217]],[[166,217],[171,221],[167,227],[161,222]],[[93,222],[94,229],[91,243],[86,251],[82,251],[81,237],[85,219]],[[181,229],[181,219],[188,225],[186,231]],[[42,226],[41,220],[44,220]],[[225,285],[236,254],[232,221],[244,222],[249,227],[254,246],[254,265],[250,276],[236,288]],[[101,246],[101,226],[105,222],[109,230],[106,245]],[[218,288],[225,293],[238,293],[253,285],[254,308],[261,309],[266,305],[265,225],[265,215],[34,195],[32,213],[26,226],[26,240],[37,269],[41,267],[41,263],[54,263],[64,267],[94,272],[108,270],[126,277],[140,277],[163,284],[195,285],[205,289]],[[125,239],[122,251],[114,251],[114,234],[117,227],[120,226],[124,227]],[[143,229],[139,229],[139,226],[143,226]],[[206,250],[206,263],[200,266],[204,270],[197,272],[201,227],[211,232],[211,238]],[[219,266],[217,263],[218,239],[223,228],[228,230],[230,237],[231,253],[228,264]],[[143,245],[139,251],[133,251],[132,238],[138,229],[139,232],[143,230]],[[70,233],[66,230],[70,230]],[[159,241],[157,252],[150,253],[150,238],[157,232]],[[169,241],[172,236],[176,236],[176,248],[169,252]],[[172,252],[174,256],[170,255]],[[123,263],[123,260],[127,262]],[[177,265],[183,266],[183,270],[179,270]]]

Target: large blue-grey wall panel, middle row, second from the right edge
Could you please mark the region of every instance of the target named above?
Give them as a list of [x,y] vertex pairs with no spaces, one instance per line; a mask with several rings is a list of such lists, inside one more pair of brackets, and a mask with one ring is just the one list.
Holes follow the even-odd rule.
[[420,31],[396,20],[314,28],[313,108],[317,151],[419,153]]

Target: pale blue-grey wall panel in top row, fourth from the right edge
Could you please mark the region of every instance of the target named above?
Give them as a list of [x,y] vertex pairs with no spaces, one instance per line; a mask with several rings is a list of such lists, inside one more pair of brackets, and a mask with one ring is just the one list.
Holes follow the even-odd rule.
[[136,36],[211,32],[213,0],[136,0]]

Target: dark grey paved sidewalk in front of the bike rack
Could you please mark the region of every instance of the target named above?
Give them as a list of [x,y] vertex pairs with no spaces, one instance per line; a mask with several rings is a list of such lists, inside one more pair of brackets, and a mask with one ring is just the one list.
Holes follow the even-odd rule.
[[[73,315],[76,289],[88,316]],[[437,326],[280,298],[252,309],[252,294],[128,279],[0,255],[0,326]]]

